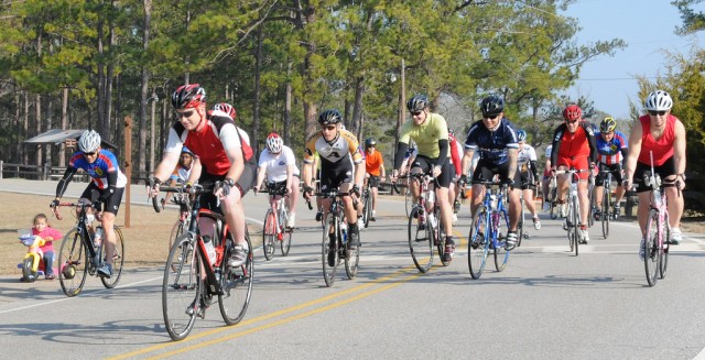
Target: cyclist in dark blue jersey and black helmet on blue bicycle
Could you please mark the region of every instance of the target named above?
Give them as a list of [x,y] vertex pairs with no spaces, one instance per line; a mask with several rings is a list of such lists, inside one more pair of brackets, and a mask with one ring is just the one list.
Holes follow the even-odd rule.
[[500,182],[509,185],[509,231],[507,247],[511,250],[517,246],[517,226],[521,211],[520,188],[521,178],[517,171],[519,159],[519,139],[517,130],[505,118],[505,100],[498,96],[489,96],[480,102],[482,120],[476,121],[468,130],[465,139],[465,154],[463,155],[463,172],[460,182],[467,184],[467,174],[473,155],[479,152],[480,159],[473,170],[473,201],[471,214],[485,198],[485,186],[476,184],[480,181],[491,181],[499,175]]

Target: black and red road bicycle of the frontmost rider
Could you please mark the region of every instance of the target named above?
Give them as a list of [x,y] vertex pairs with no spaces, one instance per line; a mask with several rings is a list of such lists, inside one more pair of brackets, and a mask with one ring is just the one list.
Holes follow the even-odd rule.
[[[252,294],[253,255],[247,228],[246,261],[231,268],[228,259],[235,241],[225,218],[200,209],[200,195],[213,193],[213,188],[194,185],[189,188],[161,187],[160,192],[184,192],[193,198],[187,231],[175,239],[164,268],[162,313],[169,336],[176,341],[186,338],[196,317],[205,318],[206,308],[216,297],[225,323],[238,324],[245,317]],[[206,219],[215,223],[213,239],[200,233],[199,223]]]

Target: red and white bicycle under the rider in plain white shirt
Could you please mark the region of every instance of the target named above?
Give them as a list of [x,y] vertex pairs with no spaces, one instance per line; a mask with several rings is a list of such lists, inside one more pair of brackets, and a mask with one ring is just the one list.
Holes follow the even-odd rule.
[[267,192],[269,193],[269,209],[267,209],[267,214],[264,215],[262,250],[264,251],[264,259],[269,261],[274,258],[276,242],[279,242],[282,257],[289,254],[294,229],[286,227],[286,222],[289,221],[286,183],[268,183]]

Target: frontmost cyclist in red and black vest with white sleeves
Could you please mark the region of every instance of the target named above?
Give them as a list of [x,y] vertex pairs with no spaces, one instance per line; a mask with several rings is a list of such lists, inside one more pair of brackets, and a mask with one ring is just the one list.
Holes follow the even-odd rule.
[[[188,146],[194,153],[194,165],[186,186],[196,181],[204,186],[215,184],[213,194],[202,196],[202,208],[224,215],[235,239],[228,265],[235,268],[245,263],[247,257],[246,223],[240,204],[245,189],[237,184],[245,168],[243,149],[232,118],[223,110],[207,111],[205,99],[206,91],[198,84],[181,86],[172,95],[178,121],[169,131],[164,157],[154,171],[154,188],[150,189],[150,196],[158,194],[159,184],[169,178],[178,162],[182,148]],[[208,233],[210,230],[206,229],[212,229],[210,226],[200,223],[202,232]]]

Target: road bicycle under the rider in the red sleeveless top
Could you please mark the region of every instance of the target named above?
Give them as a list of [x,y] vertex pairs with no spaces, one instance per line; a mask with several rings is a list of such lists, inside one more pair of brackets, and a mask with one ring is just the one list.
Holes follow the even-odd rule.
[[661,182],[661,176],[653,171],[653,153],[651,154],[651,173],[644,174],[643,183],[646,186],[651,186],[647,232],[642,243],[644,246],[643,265],[649,286],[654,286],[659,277],[665,277],[669,266],[671,223],[669,222],[668,196],[663,192],[663,187],[671,184],[664,185]]

